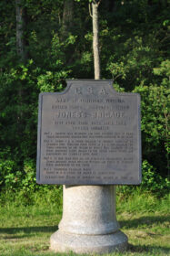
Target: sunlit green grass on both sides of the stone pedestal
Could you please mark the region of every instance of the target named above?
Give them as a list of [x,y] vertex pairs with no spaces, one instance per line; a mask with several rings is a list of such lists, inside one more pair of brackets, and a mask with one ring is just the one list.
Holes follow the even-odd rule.
[[[62,216],[57,203],[45,198],[38,199],[33,206],[21,202],[6,201],[0,208],[1,256],[75,255],[49,251],[50,236]],[[170,255],[169,206],[169,197],[117,197],[117,220],[129,244],[126,252],[110,255]]]

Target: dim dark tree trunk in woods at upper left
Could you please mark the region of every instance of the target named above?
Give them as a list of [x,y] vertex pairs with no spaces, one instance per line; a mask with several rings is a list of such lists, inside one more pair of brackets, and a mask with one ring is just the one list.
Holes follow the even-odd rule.
[[25,60],[25,7],[22,0],[15,0],[16,10],[16,52],[21,61]]

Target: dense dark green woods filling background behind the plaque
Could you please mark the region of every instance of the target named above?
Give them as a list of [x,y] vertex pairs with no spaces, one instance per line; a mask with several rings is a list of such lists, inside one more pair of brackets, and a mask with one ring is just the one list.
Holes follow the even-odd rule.
[[[35,185],[38,94],[64,90],[65,79],[95,78],[92,4],[0,2],[2,191],[28,195],[47,189]],[[114,80],[117,91],[141,94],[142,187],[159,195],[169,185],[169,14],[168,0],[103,0],[98,5],[100,77]]]

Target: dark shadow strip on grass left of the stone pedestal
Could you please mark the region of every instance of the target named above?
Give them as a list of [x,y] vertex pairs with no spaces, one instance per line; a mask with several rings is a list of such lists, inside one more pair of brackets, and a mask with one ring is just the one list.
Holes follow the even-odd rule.
[[[55,232],[58,229],[58,226],[47,226],[47,227],[23,227],[23,228],[5,228],[0,229],[0,234],[18,234],[16,236],[13,236],[13,238],[24,238],[27,235],[25,234],[31,234],[31,233],[45,233],[45,232]],[[25,233],[25,234],[19,234],[19,233]],[[33,234],[34,235],[34,234]],[[32,236],[32,235],[31,235]],[[8,237],[7,237],[8,238]]]

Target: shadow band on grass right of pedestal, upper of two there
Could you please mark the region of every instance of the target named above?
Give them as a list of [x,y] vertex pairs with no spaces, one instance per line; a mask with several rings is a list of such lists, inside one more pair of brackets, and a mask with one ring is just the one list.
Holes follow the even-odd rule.
[[120,227],[124,227],[125,229],[136,229],[145,225],[147,225],[147,228],[149,228],[153,224],[159,225],[165,221],[170,221],[170,216],[145,216],[138,219],[119,220],[119,224]]

